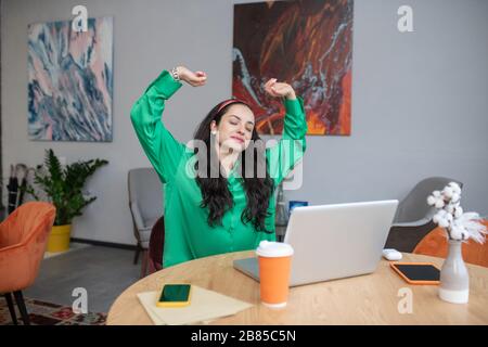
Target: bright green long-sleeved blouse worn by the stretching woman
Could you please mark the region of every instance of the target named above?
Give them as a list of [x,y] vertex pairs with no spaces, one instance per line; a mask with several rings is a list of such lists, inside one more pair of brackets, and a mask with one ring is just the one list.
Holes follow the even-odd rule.
[[[188,165],[189,160],[195,154],[171,136],[160,118],[166,100],[181,86],[164,70],[134,103],[130,113],[139,141],[164,183],[165,268],[201,257],[255,249],[262,240],[275,241],[274,195],[266,202],[270,216],[265,226],[272,233],[257,232],[253,223],[241,221],[246,207],[246,194],[240,177],[235,175],[235,165],[228,175],[234,205],[224,214],[221,226],[208,224],[208,208],[200,206],[200,185],[194,176],[187,175],[187,166],[193,167]],[[266,150],[268,172],[275,184],[288,175],[306,149],[307,123],[303,99],[282,100],[286,108],[283,136],[278,144]]]

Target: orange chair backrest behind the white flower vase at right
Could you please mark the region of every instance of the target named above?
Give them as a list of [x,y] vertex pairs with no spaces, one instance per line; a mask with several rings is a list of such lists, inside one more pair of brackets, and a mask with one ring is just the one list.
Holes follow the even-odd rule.
[[[483,223],[488,227],[488,220]],[[473,240],[462,245],[463,259],[466,262],[488,267],[488,241],[478,244]],[[446,258],[448,254],[448,242],[446,231],[442,228],[435,228],[422,239],[413,249],[414,254]]]

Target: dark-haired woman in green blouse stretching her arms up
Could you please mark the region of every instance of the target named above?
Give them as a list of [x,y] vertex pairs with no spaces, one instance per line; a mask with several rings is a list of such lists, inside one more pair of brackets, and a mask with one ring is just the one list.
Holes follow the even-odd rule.
[[260,139],[253,111],[236,99],[207,114],[195,147],[177,141],[160,119],[165,102],[183,81],[200,87],[206,80],[205,73],[184,66],[163,70],[131,110],[139,141],[165,187],[165,268],[274,241],[274,188],[306,147],[303,99],[277,79],[265,85],[286,110],[282,139],[273,147],[255,145]]

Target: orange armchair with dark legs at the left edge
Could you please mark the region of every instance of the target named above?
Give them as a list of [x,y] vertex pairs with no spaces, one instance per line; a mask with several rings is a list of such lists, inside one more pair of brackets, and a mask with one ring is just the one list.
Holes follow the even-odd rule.
[[0,294],[7,299],[14,324],[17,320],[12,293],[24,324],[29,324],[22,290],[36,280],[55,214],[52,204],[28,202],[0,224]]

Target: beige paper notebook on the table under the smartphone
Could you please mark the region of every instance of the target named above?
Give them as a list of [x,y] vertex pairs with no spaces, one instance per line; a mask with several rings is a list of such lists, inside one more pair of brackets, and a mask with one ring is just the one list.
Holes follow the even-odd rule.
[[156,306],[159,292],[139,293],[138,297],[156,325],[181,325],[209,322],[232,316],[253,307],[229,296],[192,285],[191,304],[187,307],[162,308]]

